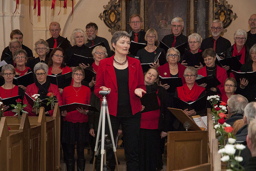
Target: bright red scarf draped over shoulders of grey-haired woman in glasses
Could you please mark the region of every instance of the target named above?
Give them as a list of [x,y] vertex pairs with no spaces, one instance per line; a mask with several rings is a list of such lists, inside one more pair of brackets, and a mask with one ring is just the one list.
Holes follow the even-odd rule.
[[177,87],[178,97],[183,101],[196,101],[200,94],[205,90],[205,88],[198,86],[196,83],[190,90],[187,83],[183,84],[181,87]]

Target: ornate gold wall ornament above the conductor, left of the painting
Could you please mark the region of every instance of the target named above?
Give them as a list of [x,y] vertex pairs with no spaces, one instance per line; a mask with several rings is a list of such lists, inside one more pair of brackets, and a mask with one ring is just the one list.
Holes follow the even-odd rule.
[[99,14],[99,18],[110,28],[108,31],[113,35],[121,28],[121,1],[110,0],[108,5],[104,5],[103,13]]

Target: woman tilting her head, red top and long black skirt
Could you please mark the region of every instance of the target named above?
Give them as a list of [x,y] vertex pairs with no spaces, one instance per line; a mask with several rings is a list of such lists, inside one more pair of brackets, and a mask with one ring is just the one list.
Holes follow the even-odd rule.
[[[141,114],[139,131],[139,163],[140,170],[155,171],[157,158],[162,158],[160,148],[161,138],[167,135],[167,127],[170,122],[167,109],[167,91],[158,85],[159,72],[156,68],[147,71],[144,77],[147,93],[156,92],[160,109]],[[150,99],[148,99],[150,101]],[[145,106],[142,106],[143,111]],[[160,158],[159,157],[159,158]]]

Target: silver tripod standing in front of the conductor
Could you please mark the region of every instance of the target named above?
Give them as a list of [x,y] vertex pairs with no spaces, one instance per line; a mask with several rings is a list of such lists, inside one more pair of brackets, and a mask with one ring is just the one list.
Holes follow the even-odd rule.
[[[98,132],[97,132],[97,138],[96,138],[96,144],[95,144],[94,151],[95,151],[95,153],[98,151],[100,127],[102,125],[102,128],[101,128],[101,150],[100,150],[100,154],[101,154],[100,171],[103,171],[103,158],[104,158],[104,167],[106,167],[106,150],[104,149],[104,143],[105,143],[105,121],[106,121],[106,114],[107,114],[107,120],[108,120],[108,126],[109,126],[109,132],[110,132],[113,152],[115,155],[117,170],[119,171],[118,161],[117,161],[117,156],[116,156],[115,141],[114,141],[114,137],[113,137],[112,127],[111,127],[111,122],[110,122],[110,117],[109,117],[109,112],[108,112],[108,104],[107,104],[107,100],[106,100],[106,96],[109,93],[110,93],[109,90],[108,91],[102,91],[102,90],[99,91],[99,94],[102,95],[102,103],[101,103]],[[92,171],[94,170],[94,166],[95,166],[95,155],[93,158]]]

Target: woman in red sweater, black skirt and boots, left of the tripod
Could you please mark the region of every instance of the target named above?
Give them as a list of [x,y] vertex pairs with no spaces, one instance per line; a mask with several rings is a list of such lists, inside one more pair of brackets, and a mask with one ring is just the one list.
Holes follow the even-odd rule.
[[[90,104],[91,90],[90,88],[81,84],[85,78],[85,71],[81,67],[76,67],[72,71],[72,78],[74,84],[65,87],[62,94],[63,104],[71,104],[74,102],[82,104]],[[61,141],[64,143],[63,148],[67,152],[67,170],[75,170],[75,142],[77,149],[77,170],[85,170],[85,156],[84,149],[87,142],[88,129],[88,110],[77,108],[76,111],[68,112],[62,111],[64,116],[63,130]]]

